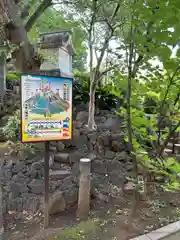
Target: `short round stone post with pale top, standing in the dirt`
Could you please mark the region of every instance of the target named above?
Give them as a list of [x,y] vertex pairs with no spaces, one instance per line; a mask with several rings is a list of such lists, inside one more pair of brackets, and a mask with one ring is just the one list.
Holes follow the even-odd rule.
[[91,160],[80,159],[80,180],[77,217],[84,219],[88,217],[90,210],[90,172]]

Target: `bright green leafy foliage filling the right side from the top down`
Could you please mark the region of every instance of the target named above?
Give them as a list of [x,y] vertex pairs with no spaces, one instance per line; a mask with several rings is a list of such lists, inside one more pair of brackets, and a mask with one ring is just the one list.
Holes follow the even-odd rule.
[[[166,190],[177,190],[180,165],[176,158],[169,159],[164,149],[180,125],[175,117],[180,114],[180,101],[176,101],[180,92],[179,51],[176,57],[171,56],[180,40],[179,3],[167,4],[163,0],[157,5],[153,0],[146,3],[140,0],[125,1],[123,5],[129,13],[126,17],[128,28],[123,28],[128,33],[123,36],[119,33],[119,49],[124,51],[125,61],[121,72],[116,74],[114,89],[117,95],[120,89],[127,93],[123,105],[126,108],[121,108],[121,114],[127,123],[126,141],[132,146],[133,166],[139,164],[155,175],[168,176],[168,184],[162,185]],[[168,15],[165,16],[166,11]],[[153,66],[155,59],[162,69]],[[146,113],[150,115],[149,120]],[[165,132],[157,134],[162,128]],[[136,168],[134,173],[138,175]]]

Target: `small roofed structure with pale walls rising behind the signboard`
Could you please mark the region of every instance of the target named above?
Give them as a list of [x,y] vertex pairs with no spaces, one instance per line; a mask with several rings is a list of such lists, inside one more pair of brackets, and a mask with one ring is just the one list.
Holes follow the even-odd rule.
[[72,56],[75,54],[72,31],[65,29],[42,33],[38,46],[44,55],[44,62],[40,67],[42,74],[72,76]]

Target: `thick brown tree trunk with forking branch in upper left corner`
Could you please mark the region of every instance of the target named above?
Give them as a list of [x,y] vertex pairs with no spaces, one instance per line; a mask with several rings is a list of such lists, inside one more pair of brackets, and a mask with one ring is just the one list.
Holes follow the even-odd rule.
[[[31,29],[43,11],[51,5],[51,2],[46,0],[40,2],[36,10],[29,17],[28,10],[30,9],[30,4],[35,4],[35,1],[25,1],[22,7],[20,1],[0,1],[0,22],[2,23],[0,43],[2,45],[4,42],[10,41],[10,43],[18,46],[18,49],[14,51],[13,57],[16,58],[17,65],[23,71],[32,69],[34,65],[34,49],[29,43],[27,31]],[[24,19],[26,21],[25,24],[23,23]]]

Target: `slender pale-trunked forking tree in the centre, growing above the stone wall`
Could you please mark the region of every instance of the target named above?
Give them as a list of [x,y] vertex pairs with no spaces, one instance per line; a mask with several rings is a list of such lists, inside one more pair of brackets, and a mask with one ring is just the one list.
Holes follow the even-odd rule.
[[[109,44],[121,26],[119,22],[117,23],[120,2],[119,0],[106,2],[78,0],[73,5],[74,8],[69,10],[69,12],[77,15],[87,34],[90,72],[89,129],[96,129],[94,121],[95,91],[104,74],[104,72],[101,72],[101,67]],[[112,70],[112,66],[105,70],[106,73],[109,70]]]

